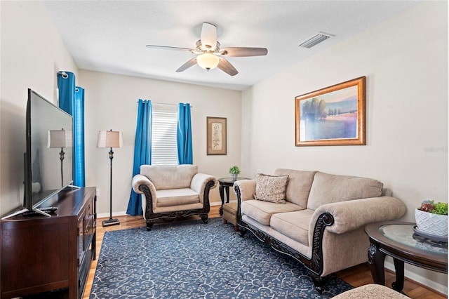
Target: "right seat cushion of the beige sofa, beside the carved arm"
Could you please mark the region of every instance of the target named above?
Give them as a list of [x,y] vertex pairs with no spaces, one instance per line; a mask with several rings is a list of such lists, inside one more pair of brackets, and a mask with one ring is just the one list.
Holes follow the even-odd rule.
[[314,211],[302,210],[272,215],[270,226],[281,234],[309,246],[309,225]]

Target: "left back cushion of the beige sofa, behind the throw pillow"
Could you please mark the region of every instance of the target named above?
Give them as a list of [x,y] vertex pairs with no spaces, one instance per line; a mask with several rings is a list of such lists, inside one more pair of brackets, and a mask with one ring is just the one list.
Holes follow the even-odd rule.
[[274,175],[288,175],[286,201],[293,202],[293,204],[302,208],[307,207],[307,199],[315,173],[316,171],[297,171],[283,168],[274,171]]

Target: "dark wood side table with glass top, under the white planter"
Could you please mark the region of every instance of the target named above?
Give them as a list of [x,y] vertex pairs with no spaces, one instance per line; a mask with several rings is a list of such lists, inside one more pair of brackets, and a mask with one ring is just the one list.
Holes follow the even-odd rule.
[[385,285],[384,260],[390,255],[394,261],[396,281],[391,286],[402,291],[404,262],[436,272],[448,273],[448,244],[430,241],[413,232],[413,222],[374,222],[366,225],[370,238],[368,263],[375,284]]

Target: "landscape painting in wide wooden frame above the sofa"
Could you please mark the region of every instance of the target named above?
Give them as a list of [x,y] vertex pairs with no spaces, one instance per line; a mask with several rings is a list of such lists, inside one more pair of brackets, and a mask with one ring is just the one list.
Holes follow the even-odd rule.
[[295,97],[296,146],[366,145],[366,77]]

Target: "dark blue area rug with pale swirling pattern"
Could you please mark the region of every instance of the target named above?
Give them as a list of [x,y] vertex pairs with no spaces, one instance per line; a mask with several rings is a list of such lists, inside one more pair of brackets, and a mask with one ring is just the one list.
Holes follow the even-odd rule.
[[105,232],[90,298],[332,298],[351,288],[332,275],[319,294],[296,260],[212,218]]

